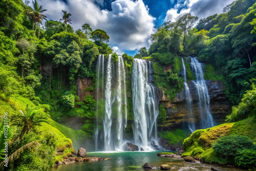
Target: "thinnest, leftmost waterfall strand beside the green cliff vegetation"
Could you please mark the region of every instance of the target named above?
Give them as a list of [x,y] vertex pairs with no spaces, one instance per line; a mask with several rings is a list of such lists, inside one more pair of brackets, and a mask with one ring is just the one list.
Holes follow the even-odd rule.
[[[104,55],[99,55],[97,60],[97,97],[96,97],[96,109],[99,108],[99,82],[100,82],[100,74],[101,74],[101,90],[103,95],[103,88],[104,88]],[[101,71],[101,72],[100,72]],[[96,129],[95,129],[95,151],[98,151],[98,134],[99,134],[99,127],[98,127],[98,111],[96,111]]]

